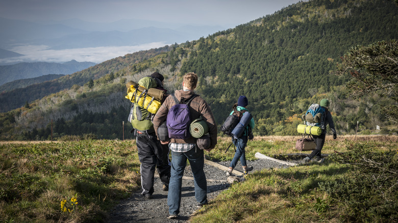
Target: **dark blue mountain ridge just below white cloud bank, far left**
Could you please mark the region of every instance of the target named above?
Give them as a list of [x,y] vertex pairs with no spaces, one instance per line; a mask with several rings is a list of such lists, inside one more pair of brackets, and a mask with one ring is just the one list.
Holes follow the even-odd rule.
[[34,78],[46,74],[72,74],[94,65],[95,63],[92,62],[72,60],[62,64],[35,62],[0,66],[0,85],[13,80]]

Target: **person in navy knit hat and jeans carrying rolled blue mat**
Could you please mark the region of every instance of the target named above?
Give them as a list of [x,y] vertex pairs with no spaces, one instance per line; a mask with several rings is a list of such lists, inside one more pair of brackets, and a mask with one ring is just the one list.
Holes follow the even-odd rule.
[[[239,111],[240,110],[248,111],[248,109],[246,108],[247,105],[248,105],[248,100],[247,100],[246,96],[241,95],[238,98],[238,103],[234,104],[233,108],[237,109]],[[231,111],[230,115],[232,115],[232,113],[234,113],[234,110]],[[234,158],[232,159],[232,161],[230,163],[229,170],[227,171],[227,176],[232,175],[232,171],[234,170],[239,159],[240,159],[240,164],[242,165],[242,168],[243,168],[243,173],[247,174],[249,171],[253,170],[253,166],[247,166],[246,155],[245,155],[245,151],[244,151],[244,148],[246,147],[246,144],[247,144],[248,136],[251,135],[250,129],[254,129],[254,119],[253,118],[252,118],[252,120],[250,120],[250,122],[247,125],[246,129],[244,130],[243,134],[236,140],[232,141],[236,147],[236,152],[235,152]]]

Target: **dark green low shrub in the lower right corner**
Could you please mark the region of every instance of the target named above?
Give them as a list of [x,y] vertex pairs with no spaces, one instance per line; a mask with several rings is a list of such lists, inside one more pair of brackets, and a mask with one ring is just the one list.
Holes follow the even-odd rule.
[[320,183],[341,206],[349,221],[398,221],[398,154],[376,151],[369,145],[350,145],[348,152],[333,154],[332,160],[349,164],[352,174]]

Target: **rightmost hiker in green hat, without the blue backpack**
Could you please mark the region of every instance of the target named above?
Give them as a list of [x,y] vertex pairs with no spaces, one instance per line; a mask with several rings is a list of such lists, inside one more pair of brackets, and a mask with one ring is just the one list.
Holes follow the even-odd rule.
[[330,130],[332,130],[332,132],[333,132],[333,140],[335,140],[337,138],[337,132],[336,132],[336,129],[334,128],[332,114],[330,114],[330,111],[328,109],[329,100],[322,99],[322,100],[320,100],[319,105],[325,109],[325,115],[322,116],[322,118],[324,119],[325,128],[322,129],[322,133],[320,135],[312,135],[312,137],[314,138],[315,144],[316,144],[316,148],[315,148],[315,150],[312,151],[312,153],[309,156],[307,156],[306,158],[303,159],[303,163],[309,162],[312,159],[312,157],[314,157],[314,156],[316,156],[316,161],[318,161],[319,163],[323,163],[325,161],[325,158],[321,158],[320,151],[322,150],[322,148],[324,147],[324,144],[325,144],[326,126],[328,124],[329,124]]

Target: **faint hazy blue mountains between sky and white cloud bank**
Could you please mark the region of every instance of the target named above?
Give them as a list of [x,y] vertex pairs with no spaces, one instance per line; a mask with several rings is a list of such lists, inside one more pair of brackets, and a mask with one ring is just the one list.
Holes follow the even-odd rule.
[[[120,20],[111,23],[79,19],[35,23],[0,17],[0,48],[15,45],[46,45],[50,49],[100,46],[132,46],[152,42],[182,43],[195,40],[227,27],[184,25],[148,20]],[[0,59],[5,53],[0,51]]]

